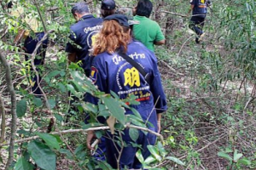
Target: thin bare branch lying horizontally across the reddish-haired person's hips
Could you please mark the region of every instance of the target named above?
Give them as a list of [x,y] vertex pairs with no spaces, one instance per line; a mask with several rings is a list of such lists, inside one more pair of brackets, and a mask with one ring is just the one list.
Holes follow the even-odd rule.
[[[138,127],[138,126],[134,126],[134,125],[131,125],[131,124],[126,124],[125,127],[127,127],[127,128],[136,128],[136,129],[139,129],[139,130],[146,131],[148,133],[152,133],[152,134],[156,135],[157,137],[160,137],[161,141],[163,141],[163,139],[164,139],[163,136],[160,133],[156,133],[156,132],[154,132],[152,130],[149,130],[148,128],[145,128],[145,127]],[[60,132],[49,133],[49,134],[61,135],[61,134],[67,134],[67,133],[86,133],[88,131],[108,130],[108,129],[109,129],[108,126],[105,126],[105,127],[90,127],[90,128],[87,128],[87,129],[70,129],[70,130],[64,130],[64,131],[60,131]],[[33,139],[38,139],[38,138],[39,138],[38,136],[32,136],[32,137],[29,137],[29,138],[26,138],[26,139],[15,140],[15,144],[16,143],[27,142],[27,141],[30,141],[30,140],[33,140]],[[9,145],[9,143],[0,144],[0,147],[5,146],[5,145]]]

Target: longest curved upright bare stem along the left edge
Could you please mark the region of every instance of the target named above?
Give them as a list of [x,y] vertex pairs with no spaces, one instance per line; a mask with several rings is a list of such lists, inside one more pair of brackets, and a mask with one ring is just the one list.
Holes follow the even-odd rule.
[[5,68],[6,71],[6,83],[8,85],[9,89],[9,94],[11,96],[11,116],[12,116],[12,121],[11,121],[11,134],[10,134],[10,141],[9,141],[9,158],[6,163],[5,169],[9,169],[9,166],[12,164],[14,160],[14,150],[15,150],[15,134],[16,134],[16,123],[17,123],[17,115],[16,115],[16,94],[15,94],[15,89],[14,85],[12,82],[12,77],[11,77],[11,70],[9,63],[3,57],[3,54],[0,52],[0,61]]

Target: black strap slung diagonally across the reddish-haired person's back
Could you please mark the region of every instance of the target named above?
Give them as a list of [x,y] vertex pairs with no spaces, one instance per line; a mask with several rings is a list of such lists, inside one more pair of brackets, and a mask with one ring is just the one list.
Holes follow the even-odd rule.
[[142,65],[139,65],[135,60],[131,59],[127,54],[124,54],[120,50],[118,51],[118,54],[125,59],[128,63],[130,63],[132,66],[134,66],[137,71],[139,71],[143,77],[145,78],[146,82],[149,84],[149,74],[143,69]]

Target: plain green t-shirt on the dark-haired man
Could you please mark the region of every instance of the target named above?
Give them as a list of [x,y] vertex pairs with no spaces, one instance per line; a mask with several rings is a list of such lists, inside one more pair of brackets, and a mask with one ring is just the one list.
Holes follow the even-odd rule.
[[140,21],[140,24],[133,25],[133,34],[136,40],[150,50],[154,51],[154,42],[165,39],[160,26],[154,20],[150,20],[145,16],[136,15],[133,20]]

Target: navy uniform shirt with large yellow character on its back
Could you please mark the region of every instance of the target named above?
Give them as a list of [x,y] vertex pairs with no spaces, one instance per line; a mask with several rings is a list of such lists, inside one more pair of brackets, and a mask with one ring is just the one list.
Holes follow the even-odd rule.
[[[137,96],[140,105],[133,105],[141,114],[143,120],[148,120],[157,129],[156,113],[166,111],[166,95],[161,84],[160,72],[157,67],[157,59],[154,53],[146,48],[142,42],[128,44],[127,53],[132,59],[143,66],[150,74],[150,81],[144,77],[130,63],[117,53],[98,54],[92,61],[90,79],[102,92],[110,94],[110,91],[119,95],[120,99],[126,99],[129,95]],[[90,96],[90,95],[88,95]],[[97,99],[90,96],[87,101],[97,105]],[[155,104],[155,109],[154,109]],[[126,111],[125,114],[132,114]]]

